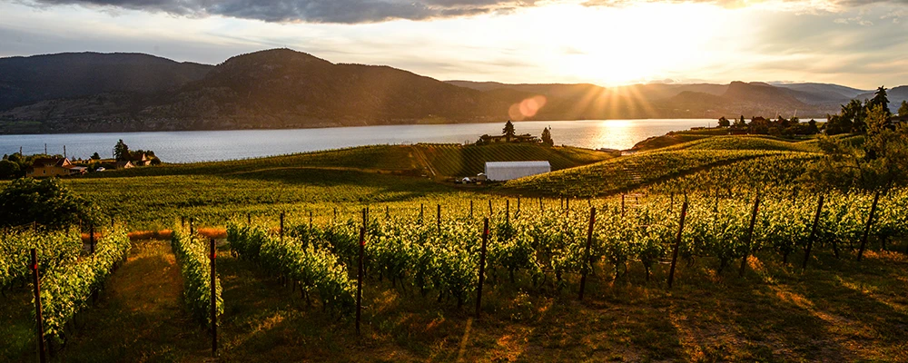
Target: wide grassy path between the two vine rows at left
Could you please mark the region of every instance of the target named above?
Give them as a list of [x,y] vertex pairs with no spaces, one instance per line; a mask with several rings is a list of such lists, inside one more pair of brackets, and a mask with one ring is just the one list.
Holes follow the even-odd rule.
[[60,361],[202,361],[208,335],[183,309],[183,280],[165,241],[133,242],[94,308],[76,319]]

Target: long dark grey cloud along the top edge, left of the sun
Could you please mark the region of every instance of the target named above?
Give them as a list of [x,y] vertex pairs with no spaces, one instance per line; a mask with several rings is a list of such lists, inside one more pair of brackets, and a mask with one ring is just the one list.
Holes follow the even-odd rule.
[[397,19],[508,13],[538,5],[537,0],[21,0],[36,7],[84,5],[172,15],[222,15],[271,23],[378,23]]

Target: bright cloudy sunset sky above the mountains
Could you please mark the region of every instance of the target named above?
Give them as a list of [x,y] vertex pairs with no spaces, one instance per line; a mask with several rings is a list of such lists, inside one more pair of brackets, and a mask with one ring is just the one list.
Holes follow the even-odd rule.
[[908,84],[908,0],[0,0],[0,56],[287,47],[503,83]]

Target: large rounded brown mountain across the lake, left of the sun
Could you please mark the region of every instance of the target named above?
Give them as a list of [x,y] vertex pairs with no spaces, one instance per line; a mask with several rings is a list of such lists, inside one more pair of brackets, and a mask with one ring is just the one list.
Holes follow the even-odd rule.
[[[496,96],[388,66],[332,64],[274,49],[234,56],[159,93],[108,92],[0,114],[3,132],[304,128],[508,118],[526,94]],[[18,123],[17,123],[18,122]],[[25,122],[25,123],[23,123]]]

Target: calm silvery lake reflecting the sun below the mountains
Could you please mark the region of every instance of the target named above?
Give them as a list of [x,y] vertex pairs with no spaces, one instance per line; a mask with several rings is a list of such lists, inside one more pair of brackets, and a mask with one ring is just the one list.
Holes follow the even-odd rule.
[[[713,126],[713,119],[540,121],[514,123],[518,133],[540,135],[551,126],[558,145],[590,149],[629,149],[647,137],[696,126]],[[47,152],[87,159],[94,152],[110,157],[123,139],[132,150],[153,150],[163,162],[209,162],[312,152],[350,146],[417,142],[475,142],[479,135],[500,134],[504,123],[337,127],[295,130],[238,130],[191,132],[109,132],[0,135],[0,154]]]

